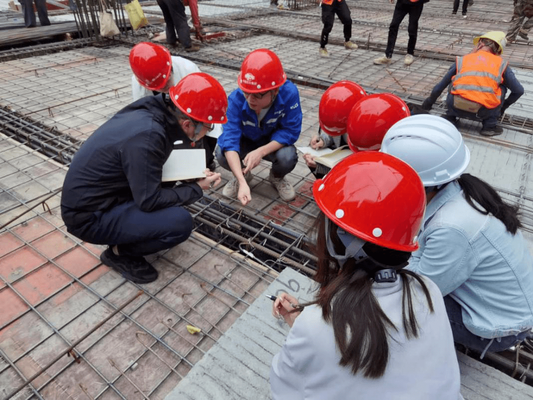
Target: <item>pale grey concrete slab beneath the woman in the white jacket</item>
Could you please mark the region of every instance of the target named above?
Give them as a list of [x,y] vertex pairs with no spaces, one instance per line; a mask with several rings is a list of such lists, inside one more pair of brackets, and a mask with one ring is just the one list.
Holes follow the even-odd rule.
[[[312,299],[314,288],[311,279],[286,268],[264,294],[287,292],[304,302]],[[269,299],[258,297],[165,400],[270,399],[270,364],[288,333],[271,309]],[[465,400],[533,399],[530,386],[464,354],[457,357]]]

